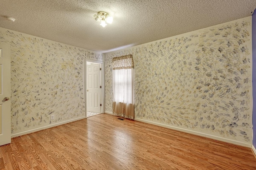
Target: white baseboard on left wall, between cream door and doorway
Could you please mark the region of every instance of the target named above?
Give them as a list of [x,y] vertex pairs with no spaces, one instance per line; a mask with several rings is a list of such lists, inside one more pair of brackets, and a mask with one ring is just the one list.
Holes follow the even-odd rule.
[[78,121],[78,120],[81,120],[81,119],[84,119],[84,118],[86,118],[86,117],[82,116],[82,117],[78,117],[78,118],[75,118],[75,119],[70,119],[70,120],[67,120],[67,121],[62,121],[62,122],[54,123],[54,124],[51,124],[51,125],[39,127],[39,128],[36,128],[36,129],[31,129],[31,130],[20,132],[20,133],[15,133],[15,134],[11,135],[11,138],[26,135],[26,134],[29,134],[29,133],[34,133],[34,132],[37,132],[37,131],[41,131],[41,130],[48,129],[48,128],[55,127],[55,126],[59,126],[59,125],[64,125],[66,123],[70,123],[72,121]]

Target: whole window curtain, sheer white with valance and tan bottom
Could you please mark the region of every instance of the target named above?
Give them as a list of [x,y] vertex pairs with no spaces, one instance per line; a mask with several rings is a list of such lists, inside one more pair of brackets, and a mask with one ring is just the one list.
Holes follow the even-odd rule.
[[113,114],[134,119],[134,64],[132,55],[114,57]]

